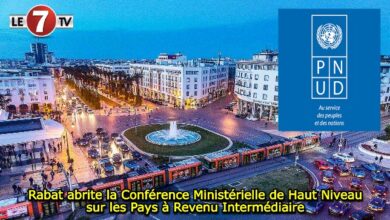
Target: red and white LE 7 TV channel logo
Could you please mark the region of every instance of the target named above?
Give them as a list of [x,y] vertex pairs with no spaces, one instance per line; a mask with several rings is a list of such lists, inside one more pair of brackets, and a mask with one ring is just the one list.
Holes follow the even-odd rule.
[[10,28],[27,28],[36,37],[47,37],[56,28],[73,28],[72,15],[56,15],[46,5],[32,7],[26,15],[10,15]]

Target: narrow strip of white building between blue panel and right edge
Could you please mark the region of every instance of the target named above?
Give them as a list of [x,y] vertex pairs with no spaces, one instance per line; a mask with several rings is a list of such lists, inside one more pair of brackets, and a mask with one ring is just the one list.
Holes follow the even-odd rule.
[[381,59],[381,112],[388,115],[390,112],[390,57]]

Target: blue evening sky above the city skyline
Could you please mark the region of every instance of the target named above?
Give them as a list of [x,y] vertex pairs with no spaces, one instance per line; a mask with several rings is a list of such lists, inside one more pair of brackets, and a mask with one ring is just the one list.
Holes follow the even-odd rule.
[[[160,52],[248,58],[277,49],[280,8],[380,8],[381,49],[390,54],[389,0],[1,0],[0,58],[23,58],[37,41],[9,29],[10,14],[46,4],[72,14],[74,29],[39,39],[65,58],[154,58]],[[364,28],[364,24],[362,24]]]

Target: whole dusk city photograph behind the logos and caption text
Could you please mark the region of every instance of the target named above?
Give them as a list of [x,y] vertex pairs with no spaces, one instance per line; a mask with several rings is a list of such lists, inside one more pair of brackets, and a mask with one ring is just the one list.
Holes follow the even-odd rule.
[[[386,1],[112,2],[0,3],[0,219],[390,219]],[[298,2],[381,9],[381,130],[278,130],[278,9]],[[40,38],[8,27],[43,3],[73,29]],[[29,201],[31,189],[363,198],[303,201],[300,214],[93,214],[90,201]]]

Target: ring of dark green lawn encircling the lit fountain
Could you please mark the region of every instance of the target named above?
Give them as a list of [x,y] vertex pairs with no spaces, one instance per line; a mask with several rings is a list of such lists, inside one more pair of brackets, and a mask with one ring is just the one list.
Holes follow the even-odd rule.
[[130,128],[124,135],[135,144],[139,149],[162,156],[191,156],[210,153],[222,150],[229,145],[229,141],[219,135],[211,133],[203,128],[179,124],[179,128],[195,131],[201,135],[202,139],[196,143],[185,146],[161,146],[146,141],[145,136],[150,132],[168,129],[169,125],[145,125],[138,128]]

